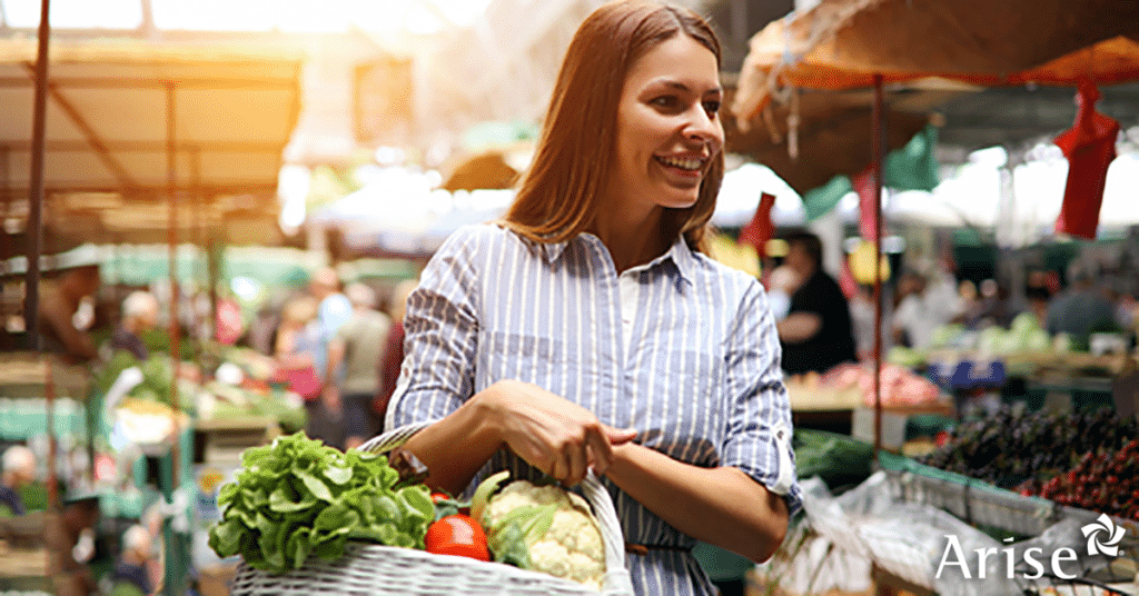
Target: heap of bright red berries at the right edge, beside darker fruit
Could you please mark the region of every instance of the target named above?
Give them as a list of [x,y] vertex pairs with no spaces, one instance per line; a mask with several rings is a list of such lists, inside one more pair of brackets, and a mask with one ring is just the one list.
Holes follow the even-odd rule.
[[1043,483],[1030,481],[1021,492],[1139,520],[1139,439],[1128,441],[1117,451],[1084,454],[1072,470]]

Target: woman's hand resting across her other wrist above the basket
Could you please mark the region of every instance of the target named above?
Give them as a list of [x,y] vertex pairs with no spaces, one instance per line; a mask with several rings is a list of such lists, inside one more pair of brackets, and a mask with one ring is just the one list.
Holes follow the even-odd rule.
[[590,466],[605,473],[613,463],[613,446],[636,435],[601,424],[593,413],[530,383],[495,383],[485,399],[502,442],[567,487],[581,482]]

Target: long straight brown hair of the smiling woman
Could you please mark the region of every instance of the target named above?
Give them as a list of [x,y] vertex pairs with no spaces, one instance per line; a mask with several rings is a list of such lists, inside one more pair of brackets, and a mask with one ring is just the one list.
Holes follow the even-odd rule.
[[[686,34],[715,55],[720,41],[687,8],[621,0],[601,6],[581,24],[566,51],[542,136],[503,224],[538,242],[563,242],[582,232],[597,210],[616,154],[617,105],[632,64],[657,44]],[[723,150],[712,156],[696,203],[665,209],[661,232],[683,234],[706,252],[705,231],[723,179]]]

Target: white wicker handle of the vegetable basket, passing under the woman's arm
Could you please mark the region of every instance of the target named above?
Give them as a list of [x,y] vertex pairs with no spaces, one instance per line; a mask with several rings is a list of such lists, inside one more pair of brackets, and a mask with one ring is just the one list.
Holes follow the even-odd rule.
[[[384,454],[405,443],[417,432],[431,426],[431,422],[417,422],[392,428],[376,435],[357,448],[369,454]],[[608,489],[590,468],[581,482],[582,493],[593,508],[593,516],[601,530],[605,542],[605,590],[607,596],[632,595],[633,585],[629,570],[625,569],[625,540],[621,531],[621,521],[613,506],[613,497]]]

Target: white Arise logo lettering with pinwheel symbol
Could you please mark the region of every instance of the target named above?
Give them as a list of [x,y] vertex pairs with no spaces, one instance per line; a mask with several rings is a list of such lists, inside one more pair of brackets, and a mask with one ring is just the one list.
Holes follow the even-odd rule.
[[[1120,542],[1123,541],[1123,528],[1115,525],[1107,514],[1100,514],[1095,522],[1089,523],[1080,529],[1083,536],[1088,539],[1088,555],[1107,555],[1107,556],[1118,556]],[[941,563],[937,564],[937,572],[934,574],[935,578],[941,579],[942,573],[948,566],[960,568],[961,577],[964,579],[973,579],[973,572],[967,563],[967,557],[965,550],[961,548],[961,541],[956,536],[947,534],[948,542],[945,544],[945,552],[941,555]],[[1006,542],[1010,542],[1011,538],[1006,538]],[[1016,561],[1019,556],[1019,563],[1023,563],[1022,569],[1029,568],[1032,571],[1023,571],[1021,577],[1024,579],[1039,579],[1044,574],[1044,563],[1049,564],[1052,577],[1060,579],[1075,579],[1076,573],[1070,573],[1065,570],[1065,563],[1074,563],[1077,561],[1079,555],[1075,549],[1068,547],[1057,548],[1052,550],[1052,554],[1047,560],[1042,561],[1040,558],[1043,555],[1043,549],[1040,547],[1025,548],[1023,552],[1017,554],[1016,549],[1008,547],[1002,549],[997,548],[975,548],[977,561],[977,579],[985,579],[989,572],[989,561],[990,558],[997,557],[1000,561],[1001,555],[1005,558],[1005,574],[1008,579],[1013,579],[1016,575],[1016,568],[1018,562]]]

